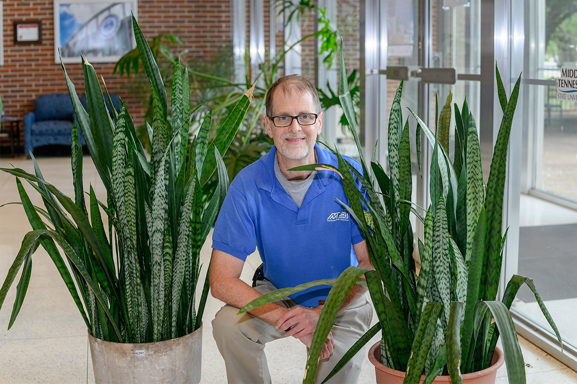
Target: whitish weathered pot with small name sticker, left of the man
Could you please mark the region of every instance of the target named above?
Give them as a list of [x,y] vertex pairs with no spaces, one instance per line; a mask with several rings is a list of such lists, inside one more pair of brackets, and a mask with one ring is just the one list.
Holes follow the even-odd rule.
[[88,333],[97,383],[200,382],[203,325],[178,339],[156,343],[113,343]]

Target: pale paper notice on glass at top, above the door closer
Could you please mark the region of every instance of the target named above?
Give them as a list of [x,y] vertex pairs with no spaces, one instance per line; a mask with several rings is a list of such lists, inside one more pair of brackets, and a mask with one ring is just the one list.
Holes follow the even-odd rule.
[[413,2],[387,2],[388,56],[407,57],[413,54]]

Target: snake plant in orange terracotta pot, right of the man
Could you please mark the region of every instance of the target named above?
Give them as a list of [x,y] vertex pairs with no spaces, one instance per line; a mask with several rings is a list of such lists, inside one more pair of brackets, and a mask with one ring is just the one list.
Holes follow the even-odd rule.
[[[341,66],[344,66],[342,54]],[[340,77],[339,97],[347,118],[353,123],[354,111],[343,74],[344,71]],[[417,120],[415,140],[419,172],[422,166],[421,130],[433,146],[432,161],[428,165],[431,203],[426,210],[421,208],[426,215],[409,201],[411,153],[409,120],[403,124],[400,107],[403,82],[396,92],[389,118],[388,174],[377,162],[372,162],[370,168],[365,164],[354,123],[351,132],[357,143],[363,174],[345,161],[339,162],[339,169],[323,164],[294,169],[331,169],[340,174],[350,201],[350,206],[343,204],[343,210],[353,216],[364,233],[375,268],[369,271],[350,267],[336,282],[324,280],[271,292],[241,310],[313,285],[334,285],[314,332],[304,382],[313,382],[324,340],[344,298],[357,283],[368,286],[379,322],[351,347],[326,379],[382,330],[381,341],[369,352],[369,359],[376,365],[377,382],[430,383],[443,374],[448,377],[437,381],[463,382],[467,377],[491,373],[492,378],[484,377],[482,381],[494,382],[497,366],[493,365],[492,372],[486,368],[499,360],[503,364],[503,357],[509,382],[525,382],[523,355],[508,311],[523,283],[534,292],[561,343],[559,331],[531,279],[514,275],[505,288],[502,301],[496,300],[507,235],[506,231],[504,235],[501,233],[505,163],[520,85],[519,78],[507,99],[498,69],[496,78],[503,119],[486,187],[477,128],[467,102],[461,109],[456,104],[451,108],[452,96],[449,94],[436,118],[435,133],[409,110]],[[455,151],[451,158],[448,144],[453,109],[456,127]],[[342,160],[338,151],[334,152]],[[366,198],[355,188],[354,178],[361,181]],[[420,271],[413,259],[410,212],[424,223],[425,228],[424,239],[418,240]],[[361,275],[365,275],[366,283],[358,280]],[[504,356],[496,348],[500,335],[503,336]],[[380,371],[392,371],[392,374],[383,378]]]

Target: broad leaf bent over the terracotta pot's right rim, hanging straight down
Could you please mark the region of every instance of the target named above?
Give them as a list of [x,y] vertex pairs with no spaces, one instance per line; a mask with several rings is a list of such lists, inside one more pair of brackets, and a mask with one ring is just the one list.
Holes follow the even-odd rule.
[[487,309],[493,315],[497,329],[503,336],[503,354],[505,355],[509,383],[526,382],[523,352],[519,346],[515,325],[507,306],[500,301],[479,301],[475,305],[475,324],[478,324],[479,320],[485,317]]

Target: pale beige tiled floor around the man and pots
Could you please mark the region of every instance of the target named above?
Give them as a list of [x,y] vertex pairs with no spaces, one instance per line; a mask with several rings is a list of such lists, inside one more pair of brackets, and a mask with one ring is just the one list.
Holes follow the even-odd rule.
[[[40,158],[40,168],[46,180],[55,184],[63,193],[72,192],[70,159]],[[1,168],[17,168],[32,171],[32,161],[25,158],[0,159]],[[98,174],[91,159],[84,158],[84,187],[93,184],[96,194],[102,196]],[[30,190],[31,188],[27,188]],[[40,205],[35,193],[32,202]],[[19,201],[14,177],[0,173],[0,205]],[[16,204],[0,208],[0,279],[5,278],[24,234],[30,230],[21,206]],[[201,252],[202,262],[208,264],[209,243]],[[247,281],[252,270],[260,264],[257,255],[248,258],[243,271]],[[14,283],[16,284],[16,283]],[[94,382],[92,363],[88,351],[86,329],[72,298],[66,290],[50,258],[39,249],[33,258],[33,269],[28,294],[20,315],[12,329],[6,330],[16,287],[8,293],[0,311],[0,383],[81,383]],[[202,383],[225,383],[224,362],[212,339],[210,320],[221,302],[209,297],[203,329]],[[373,317],[376,321],[376,316]],[[373,341],[376,342],[377,339]],[[577,373],[520,339],[526,363],[529,383],[573,383]],[[372,343],[370,343],[372,344]],[[267,345],[269,368],[273,383],[298,383],[302,381],[306,360],[304,345],[289,338]],[[365,359],[361,383],[374,383],[373,367]],[[497,383],[507,382],[503,366],[497,371]]]

